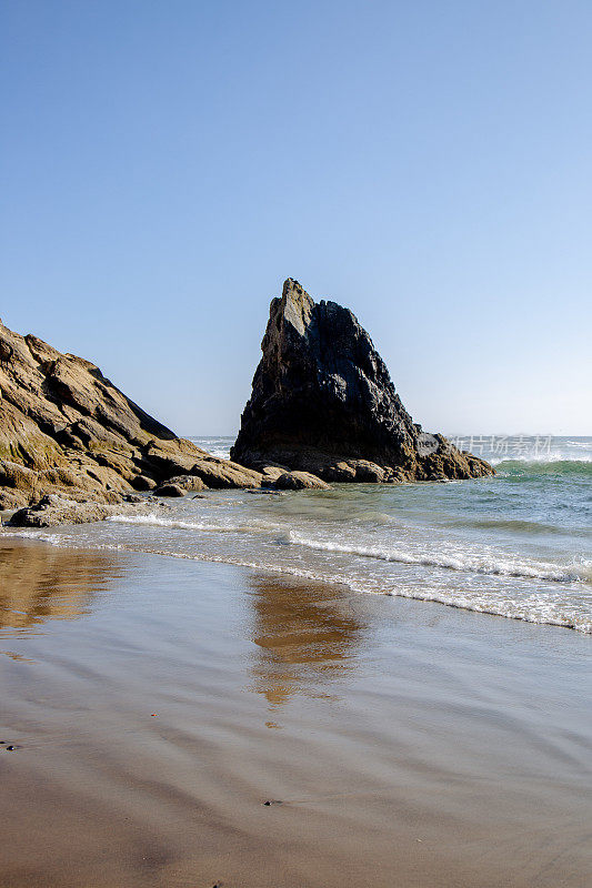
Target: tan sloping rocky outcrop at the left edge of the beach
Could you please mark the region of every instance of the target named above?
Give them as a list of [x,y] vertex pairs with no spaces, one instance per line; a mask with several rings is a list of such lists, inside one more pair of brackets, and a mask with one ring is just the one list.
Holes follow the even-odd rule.
[[180,475],[195,478],[185,490],[262,480],[177,437],[94,364],[0,322],[0,509],[50,494],[117,504]]

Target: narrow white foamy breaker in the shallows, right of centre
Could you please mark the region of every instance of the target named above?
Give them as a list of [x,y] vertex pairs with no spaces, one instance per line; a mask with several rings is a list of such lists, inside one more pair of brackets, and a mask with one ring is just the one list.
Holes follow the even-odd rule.
[[555,567],[551,564],[531,565],[525,562],[504,561],[502,558],[495,559],[483,555],[475,556],[462,553],[456,553],[455,555],[419,555],[413,552],[387,551],[374,546],[348,545],[333,541],[309,539],[293,531],[288,533],[287,542],[321,552],[339,552],[348,555],[359,555],[364,558],[378,558],[383,562],[422,565],[425,567],[442,567],[449,571],[462,571],[463,573],[491,574],[493,576],[509,576],[523,579],[544,579],[551,583],[574,583],[585,578],[574,569]]

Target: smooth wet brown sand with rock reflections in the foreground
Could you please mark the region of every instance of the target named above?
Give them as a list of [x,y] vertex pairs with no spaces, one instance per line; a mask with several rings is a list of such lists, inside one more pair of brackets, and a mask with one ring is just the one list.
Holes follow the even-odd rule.
[[0,885],[584,888],[591,645],[0,541]]

